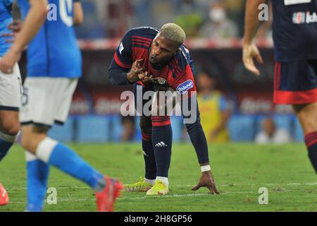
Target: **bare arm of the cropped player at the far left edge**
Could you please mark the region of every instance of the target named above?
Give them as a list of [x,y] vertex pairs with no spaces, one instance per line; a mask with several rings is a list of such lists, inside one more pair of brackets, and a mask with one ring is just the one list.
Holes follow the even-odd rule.
[[30,11],[27,13],[23,28],[16,35],[8,52],[0,60],[0,71],[12,73],[13,66],[20,59],[23,48],[29,43],[42,27],[47,12],[47,0],[30,0]]

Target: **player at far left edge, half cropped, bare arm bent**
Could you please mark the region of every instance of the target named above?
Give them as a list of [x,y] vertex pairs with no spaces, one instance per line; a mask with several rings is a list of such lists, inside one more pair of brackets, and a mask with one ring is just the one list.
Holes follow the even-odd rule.
[[[14,42],[6,36],[13,36],[8,25],[13,22],[11,8],[13,1],[0,1],[0,162],[15,142],[20,131],[18,112],[22,93],[20,70],[17,61],[25,45],[39,31],[46,16],[46,0],[30,0],[30,13],[25,27]],[[13,43],[12,43],[13,42]],[[0,206],[8,203],[8,194],[0,184]]]

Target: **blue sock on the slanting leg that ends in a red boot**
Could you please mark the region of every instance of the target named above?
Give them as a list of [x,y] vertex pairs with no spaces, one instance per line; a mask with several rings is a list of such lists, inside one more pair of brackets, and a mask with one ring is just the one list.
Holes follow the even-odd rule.
[[93,189],[96,189],[104,178],[102,174],[88,165],[73,150],[61,143],[58,143],[52,150],[48,163],[86,182]]

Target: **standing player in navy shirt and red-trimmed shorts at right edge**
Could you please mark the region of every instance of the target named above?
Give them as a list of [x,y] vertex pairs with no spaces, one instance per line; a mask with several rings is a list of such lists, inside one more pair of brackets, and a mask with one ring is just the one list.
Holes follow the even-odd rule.
[[[259,5],[248,0],[243,39],[244,66],[256,75],[253,57],[263,63],[253,44],[259,25]],[[317,172],[317,1],[273,0],[275,55],[274,97],[278,105],[292,105],[305,134],[309,159]]]

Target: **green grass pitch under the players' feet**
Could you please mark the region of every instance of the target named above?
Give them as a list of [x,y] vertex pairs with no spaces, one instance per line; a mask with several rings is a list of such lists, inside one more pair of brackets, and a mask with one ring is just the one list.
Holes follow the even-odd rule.
[[[70,144],[71,148],[104,174],[123,183],[144,174],[139,143]],[[317,177],[304,144],[254,145],[231,143],[209,146],[211,167],[220,195],[207,189],[191,191],[200,177],[197,157],[190,144],[174,144],[170,165],[170,194],[147,197],[125,193],[116,211],[316,211]],[[25,155],[15,145],[0,164],[0,182],[10,203],[0,211],[23,211],[26,202]],[[96,211],[89,187],[51,167],[49,187],[57,190],[57,203],[44,211]],[[258,202],[259,188],[268,189],[268,205]]]

